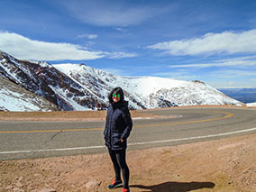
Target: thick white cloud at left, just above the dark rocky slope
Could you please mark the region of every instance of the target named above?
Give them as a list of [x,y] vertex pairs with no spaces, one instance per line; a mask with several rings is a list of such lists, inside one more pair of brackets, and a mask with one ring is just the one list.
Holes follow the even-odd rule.
[[105,57],[101,51],[89,51],[76,44],[34,41],[10,32],[0,32],[0,49],[18,59],[79,60]]

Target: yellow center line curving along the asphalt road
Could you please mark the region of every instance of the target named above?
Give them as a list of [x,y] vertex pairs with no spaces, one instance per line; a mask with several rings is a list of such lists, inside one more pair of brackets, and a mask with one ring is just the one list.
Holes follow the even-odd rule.
[[[177,123],[158,123],[158,124],[143,124],[143,125],[135,125],[134,128],[139,127],[149,127],[149,126],[166,126],[166,125],[176,125],[176,124],[188,124],[188,123],[205,123],[205,122],[212,122],[218,121],[222,119],[227,119],[233,117],[233,113],[229,112],[221,112],[215,111],[217,114],[225,114],[222,117],[216,117],[211,119],[203,119],[203,120],[196,120],[196,121],[189,121],[189,122],[177,122]],[[63,129],[63,130],[32,130],[32,131],[0,131],[0,133],[56,133],[56,132],[81,132],[81,131],[95,131],[95,130],[104,130],[103,127],[101,128],[78,128],[78,129]]]

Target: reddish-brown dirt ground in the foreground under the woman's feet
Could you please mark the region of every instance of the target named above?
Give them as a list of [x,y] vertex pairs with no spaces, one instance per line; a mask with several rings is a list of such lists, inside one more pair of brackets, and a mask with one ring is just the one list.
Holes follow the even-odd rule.
[[[131,191],[256,191],[256,134],[128,150],[127,163]],[[122,191],[107,188],[113,178],[107,153],[0,161],[1,192]]]

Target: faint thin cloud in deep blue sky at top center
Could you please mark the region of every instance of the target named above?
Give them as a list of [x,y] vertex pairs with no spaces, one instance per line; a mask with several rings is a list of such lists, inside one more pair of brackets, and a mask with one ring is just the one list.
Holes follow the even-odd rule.
[[[156,14],[155,8],[129,5],[127,1],[73,0],[61,2],[70,14],[83,23],[97,26],[127,26],[142,23]],[[160,13],[160,11],[158,11]]]

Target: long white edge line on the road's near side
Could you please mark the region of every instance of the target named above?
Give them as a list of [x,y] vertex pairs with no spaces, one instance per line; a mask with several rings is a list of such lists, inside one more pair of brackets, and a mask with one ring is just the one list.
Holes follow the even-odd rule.
[[[197,136],[197,137],[187,137],[181,139],[173,139],[173,140],[163,140],[163,141],[153,141],[153,142],[134,142],[129,143],[128,145],[143,145],[143,144],[153,144],[153,143],[162,143],[162,142],[180,142],[180,141],[187,141],[187,140],[197,140],[197,139],[204,139],[210,137],[219,137],[224,135],[231,135],[237,133],[246,133],[255,131],[256,127],[236,132],[230,133],[219,133],[219,134],[210,134],[205,136]],[[50,150],[28,150],[28,151],[0,151],[0,154],[14,154],[14,153],[29,153],[29,152],[45,152],[45,151],[75,151],[75,150],[88,150],[88,149],[98,149],[98,148],[105,148],[105,146],[89,146],[89,147],[76,147],[76,148],[63,148],[63,149],[50,149]]]

